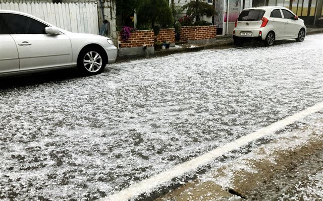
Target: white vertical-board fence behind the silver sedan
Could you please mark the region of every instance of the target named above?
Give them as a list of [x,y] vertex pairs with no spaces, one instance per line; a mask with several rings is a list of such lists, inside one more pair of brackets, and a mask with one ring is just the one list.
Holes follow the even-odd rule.
[[97,5],[93,3],[0,3],[0,9],[28,13],[72,32],[99,32]]

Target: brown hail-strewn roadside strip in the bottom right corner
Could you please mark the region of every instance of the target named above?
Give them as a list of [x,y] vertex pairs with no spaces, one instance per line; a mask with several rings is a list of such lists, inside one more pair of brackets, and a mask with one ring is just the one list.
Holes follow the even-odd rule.
[[299,124],[155,201],[322,200],[323,119]]

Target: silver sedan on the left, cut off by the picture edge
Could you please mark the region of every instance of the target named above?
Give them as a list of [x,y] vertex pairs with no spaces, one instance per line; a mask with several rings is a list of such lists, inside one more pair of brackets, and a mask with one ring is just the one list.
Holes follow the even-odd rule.
[[101,73],[117,58],[110,38],[71,33],[26,13],[0,10],[0,77],[77,66]]

